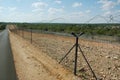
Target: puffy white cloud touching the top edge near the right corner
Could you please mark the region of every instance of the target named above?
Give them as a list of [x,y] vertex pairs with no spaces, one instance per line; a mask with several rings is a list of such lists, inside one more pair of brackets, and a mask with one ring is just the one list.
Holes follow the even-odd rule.
[[116,3],[110,0],[99,0],[98,3],[102,4],[103,10],[110,10],[115,7]]

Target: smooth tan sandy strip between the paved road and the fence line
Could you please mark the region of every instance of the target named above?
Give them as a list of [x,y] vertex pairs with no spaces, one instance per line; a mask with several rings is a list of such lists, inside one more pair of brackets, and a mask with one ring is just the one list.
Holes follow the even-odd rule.
[[80,80],[30,42],[10,32],[19,80]]

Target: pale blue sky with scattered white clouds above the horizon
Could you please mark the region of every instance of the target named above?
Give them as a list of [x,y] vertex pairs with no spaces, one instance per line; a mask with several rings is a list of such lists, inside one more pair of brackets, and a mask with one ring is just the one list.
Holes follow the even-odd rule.
[[120,0],[0,0],[0,22],[120,23]]

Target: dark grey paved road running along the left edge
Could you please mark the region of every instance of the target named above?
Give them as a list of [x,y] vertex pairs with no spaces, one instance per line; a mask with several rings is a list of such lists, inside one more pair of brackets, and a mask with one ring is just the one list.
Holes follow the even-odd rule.
[[8,29],[0,32],[0,80],[17,80]]

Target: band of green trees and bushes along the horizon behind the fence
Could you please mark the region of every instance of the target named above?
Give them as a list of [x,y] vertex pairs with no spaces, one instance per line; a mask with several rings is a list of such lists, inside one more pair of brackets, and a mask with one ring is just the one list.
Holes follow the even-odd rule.
[[32,28],[43,31],[79,33],[89,35],[120,36],[120,24],[57,24],[57,23],[19,23],[18,27]]

